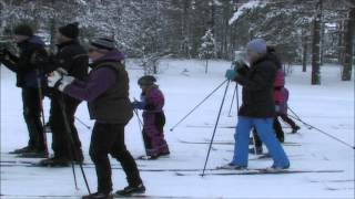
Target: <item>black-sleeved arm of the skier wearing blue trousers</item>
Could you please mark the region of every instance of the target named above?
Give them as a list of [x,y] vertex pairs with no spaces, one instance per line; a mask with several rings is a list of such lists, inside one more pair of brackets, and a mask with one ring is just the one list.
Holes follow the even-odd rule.
[[273,85],[275,77],[275,69],[273,66],[268,67],[267,65],[256,66],[254,75],[252,78],[237,75],[235,81],[244,86],[245,88],[252,91],[260,91],[267,87],[270,84]]

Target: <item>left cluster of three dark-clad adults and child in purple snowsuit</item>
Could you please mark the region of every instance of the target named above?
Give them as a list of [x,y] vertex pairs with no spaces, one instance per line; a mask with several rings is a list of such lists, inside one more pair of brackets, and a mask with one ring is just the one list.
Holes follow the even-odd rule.
[[[82,164],[84,156],[74,125],[74,114],[82,101],[88,102],[90,118],[95,121],[90,157],[95,165],[98,191],[83,199],[113,198],[111,165],[108,155],[118,159],[129,186],[116,196],[145,192],[135,160],[124,144],[124,127],[133,109],[143,109],[143,137],[148,159],[170,154],[164,139],[164,95],[153,76],[142,76],[141,101],[129,98],[129,75],[124,54],[110,38],[95,38],[87,51],[79,42],[79,24],[58,29],[57,53],[50,54],[43,41],[34,35],[29,24],[13,30],[19,53],[3,49],[0,63],[17,74],[17,86],[22,90],[23,117],[29,132],[28,146],[11,151],[18,157],[43,158],[44,167]],[[89,63],[91,61],[91,63]],[[52,133],[53,157],[47,148],[42,100],[51,100],[49,126]],[[42,118],[42,119],[41,119]]]

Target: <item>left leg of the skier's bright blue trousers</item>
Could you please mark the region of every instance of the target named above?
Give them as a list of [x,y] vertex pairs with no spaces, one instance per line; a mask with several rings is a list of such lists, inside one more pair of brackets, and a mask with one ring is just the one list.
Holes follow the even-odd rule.
[[253,127],[252,119],[248,117],[240,116],[237,119],[236,132],[234,134],[234,157],[232,165],[247,167],[248,156],[248,138]]

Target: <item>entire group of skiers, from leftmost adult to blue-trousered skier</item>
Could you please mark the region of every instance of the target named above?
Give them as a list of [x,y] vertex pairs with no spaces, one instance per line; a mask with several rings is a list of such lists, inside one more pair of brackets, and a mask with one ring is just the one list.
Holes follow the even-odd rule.
[[[95,121],[90,145],[90,157],[95,165],[98,191],[83,199],[113,198],[111,165],[108,155],[118,159],[126,175],[129,186],[116,196],[143,193],[145,187],[135,160],[124,144],[124,127],[133,111],[143,109],[143,140],[146,159],[158,159],[170,154],[164,139],[164,95],[154,76],[142,76],[138,84],[141,100],[129,98],[129,75],[124,55],[110,38],[95,38],[87,51],[79,42],[79,24],[59,28],[58,51],[50,54],[41,39],[28,24],[13,30],[19,55],[7,50],[0,52],[0,62],[17,74],[17,85],[22,90],[23,117],[28,126],[29,143],[11,154],[19,157],[44,158],[40,166],[69,166],[82,164],[84,156],[74,125],[74,114],[82,101],[88,102],[90,118]],[[225,77],[243,86],[243,103],[239,109],[234,157],[226,169],[245,169],[248,153],[262,153],[264,143],[274,164],[270,169],[287,169],[290,160],[281,145],[284,142],[277,117],[300,127],[287,117],[288,92],[280,59],[266,42],[256,39],[247,44],[250,66],[236,62]],[[89,60],[91,63],[89,63]],[[90,69],[90,70],[89,70]],[[53,157],[48,157],[42,100],[50,97],[49,125],[52,132]],[[254,129],[254,150],[250,151],[250,134]],[[277,135],[277,136],[276,136]],[[278,139],[278,140],[277,140]]]

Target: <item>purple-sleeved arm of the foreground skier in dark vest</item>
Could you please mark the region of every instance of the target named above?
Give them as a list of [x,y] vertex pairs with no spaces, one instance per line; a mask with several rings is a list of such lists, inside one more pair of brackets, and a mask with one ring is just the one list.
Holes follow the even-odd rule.
[[92,73],[87,82],[75,80],[62,88],[63,93],[82,101],[93,101],[114,85],[116,75],[112,69],[102,67]]

